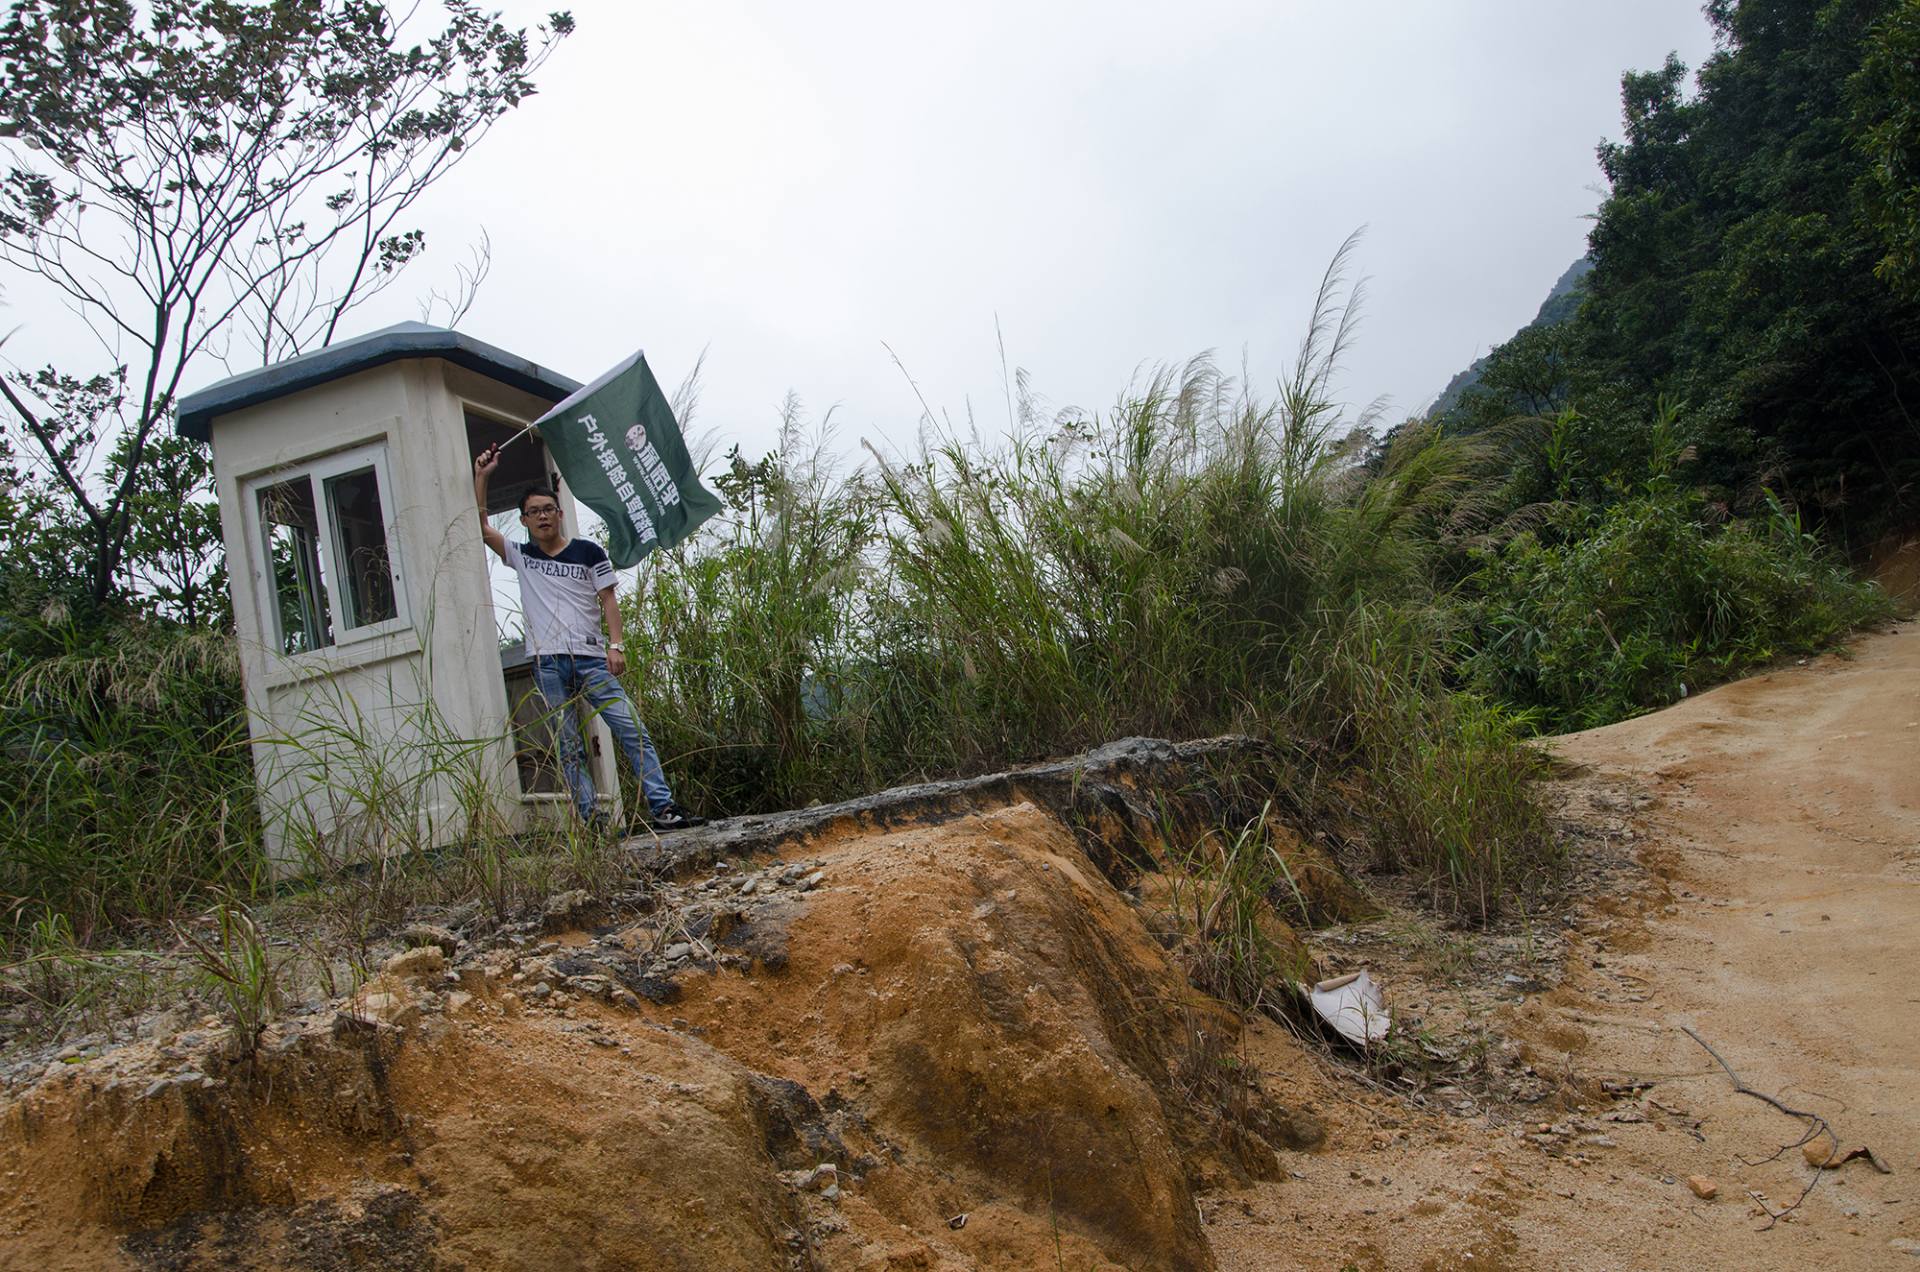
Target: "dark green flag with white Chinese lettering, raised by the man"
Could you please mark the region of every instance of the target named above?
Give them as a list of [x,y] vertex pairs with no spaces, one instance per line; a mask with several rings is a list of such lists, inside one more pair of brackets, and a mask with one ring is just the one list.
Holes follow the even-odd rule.
[[687,457],[674,407],[634,354],[536,421],[574,498],[607,523],[620,569],[672,548],[720,511]]

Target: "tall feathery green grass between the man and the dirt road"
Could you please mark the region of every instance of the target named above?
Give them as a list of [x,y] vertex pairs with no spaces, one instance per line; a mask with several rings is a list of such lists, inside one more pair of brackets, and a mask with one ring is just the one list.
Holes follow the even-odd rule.
[[1549,836],[1498,711],[1446,684],[1434,517],[1469,442],[1407,438],[1367,475],[1331,400],[1346,252],[1271,398],[1208,357],[1112,411],[935,436],[839,477],[803,446],[735,463],[733,517],[655,559],[632,688],[687,797],[749,813],[1071,753],[1252,730],[1294,799],[1484,918]]

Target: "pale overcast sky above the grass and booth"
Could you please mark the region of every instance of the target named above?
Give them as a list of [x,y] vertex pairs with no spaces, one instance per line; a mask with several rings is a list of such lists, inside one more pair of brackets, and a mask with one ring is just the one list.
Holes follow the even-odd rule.
[[[749,455],[787,390],[835,409],[843,448],[910,444],[922,409],[885,346],[937,411],[1004,430],[996,325],[1056,407],[1202,350],[1271,384],[1361,225],[1342,396],[1398,419],[1584,250],[1620,73],[1711,48],[1686,0],[572,12],[361,329],[419,317],[484,227],[465,330],[582,380],[645,348],[672,386],[707,350],[699,425]],[[27,329],[61,319],[10,302]]]

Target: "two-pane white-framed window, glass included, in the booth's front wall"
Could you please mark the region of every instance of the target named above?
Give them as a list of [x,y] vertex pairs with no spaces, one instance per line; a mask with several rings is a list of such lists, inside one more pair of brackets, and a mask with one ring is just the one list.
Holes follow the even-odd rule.
[[386,448],[363,446],[253,486],[267,605],[282,653],[307,653],[403,624]]

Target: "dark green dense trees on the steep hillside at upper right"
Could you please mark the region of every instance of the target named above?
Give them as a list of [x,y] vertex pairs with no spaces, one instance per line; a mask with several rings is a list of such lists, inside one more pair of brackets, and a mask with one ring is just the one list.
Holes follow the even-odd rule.
[[1722,498],[1759,509],[1770,486],[1849,542],[1910,521],[1920,482],[1920,306],[1889,286],[1912,223],[1912,8],[1715,2],[1695,96],[1674,60],[1626,75],[1571,332],[1576,407],[1645,425],[1670,396]]

